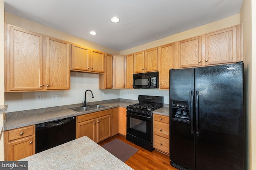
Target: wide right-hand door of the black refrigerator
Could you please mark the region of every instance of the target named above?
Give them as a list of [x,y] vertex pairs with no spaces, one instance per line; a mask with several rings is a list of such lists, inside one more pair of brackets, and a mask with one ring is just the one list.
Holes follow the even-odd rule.
[[243,63],[195,68],[195,91],[196,170],[244,169]]

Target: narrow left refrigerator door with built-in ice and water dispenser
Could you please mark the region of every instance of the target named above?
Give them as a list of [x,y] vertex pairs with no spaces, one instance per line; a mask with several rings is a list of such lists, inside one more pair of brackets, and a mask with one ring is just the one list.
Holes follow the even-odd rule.
[[190,170],[195,167],[193,95],[194,68],[170,70],[170,161]]

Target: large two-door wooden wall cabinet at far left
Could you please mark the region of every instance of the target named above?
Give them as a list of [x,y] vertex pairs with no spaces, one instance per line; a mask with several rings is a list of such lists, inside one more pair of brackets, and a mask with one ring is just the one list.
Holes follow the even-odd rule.
[[71,43],[6,27],[5,92],[70,89]]

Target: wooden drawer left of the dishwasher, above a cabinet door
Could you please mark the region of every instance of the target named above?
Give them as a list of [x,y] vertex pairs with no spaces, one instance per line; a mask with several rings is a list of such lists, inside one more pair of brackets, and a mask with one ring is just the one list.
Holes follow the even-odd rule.
[[15,130],[8,131],[8,136],[9,136],[8,141],[31,136],[33,134],[34,134],[34,126],[17,128]]

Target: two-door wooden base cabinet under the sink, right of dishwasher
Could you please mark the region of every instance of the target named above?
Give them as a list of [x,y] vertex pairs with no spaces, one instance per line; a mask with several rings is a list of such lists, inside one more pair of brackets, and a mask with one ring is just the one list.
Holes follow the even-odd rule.
[[76,138],[87,136],[99,143],[111,136],[111,114],[113,109],[97,111],[76,117]]

